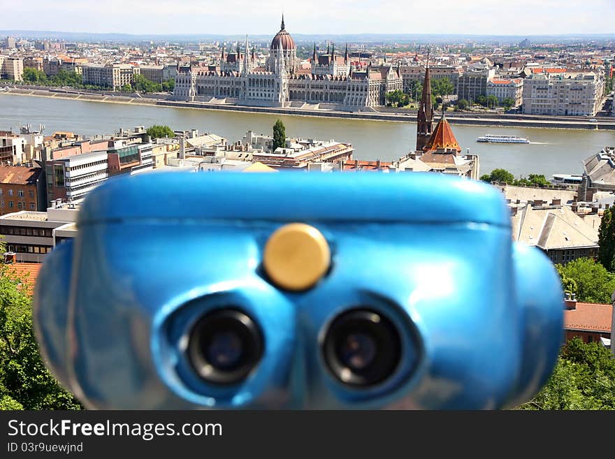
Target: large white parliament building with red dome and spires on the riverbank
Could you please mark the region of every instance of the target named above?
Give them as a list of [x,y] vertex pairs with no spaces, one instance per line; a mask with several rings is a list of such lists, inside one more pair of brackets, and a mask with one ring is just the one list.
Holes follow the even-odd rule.
[[368,66],[355,71],[346,52],[312,56],[311,71],[299,68],[296,45],[282,19],[270,44],[266,66],[256,66],[246,40],[243,53],[229,53],[217,66],[180,67],[174,98],[180,101],[234,99],[243,105],[302,106],[325,104],[342,110],[363,110],[384,105],[387,92],[403,88],[399,68]]

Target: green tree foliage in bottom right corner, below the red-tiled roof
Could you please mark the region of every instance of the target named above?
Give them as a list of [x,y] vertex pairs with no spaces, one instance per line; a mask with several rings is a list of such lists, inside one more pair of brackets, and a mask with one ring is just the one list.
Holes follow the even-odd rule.
[[615,409],[615,359],[597,342],[565,344],[551,379],[521,409]]

